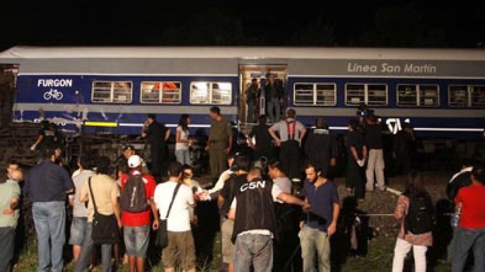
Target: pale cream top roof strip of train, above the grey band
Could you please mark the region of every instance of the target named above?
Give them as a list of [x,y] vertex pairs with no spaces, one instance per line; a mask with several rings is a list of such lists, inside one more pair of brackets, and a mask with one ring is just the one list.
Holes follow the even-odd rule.
[[238,58],[485,60],[485,49],[311,47],[24,47],[0,52],[0,63],[59,58]]

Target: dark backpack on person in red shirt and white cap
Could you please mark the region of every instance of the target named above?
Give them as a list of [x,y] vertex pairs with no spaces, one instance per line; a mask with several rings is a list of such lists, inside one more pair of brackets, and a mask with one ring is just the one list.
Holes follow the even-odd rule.
[[143,176],[130,174],[121,191],[119,203],[123,211],[139,213],[148,209]]

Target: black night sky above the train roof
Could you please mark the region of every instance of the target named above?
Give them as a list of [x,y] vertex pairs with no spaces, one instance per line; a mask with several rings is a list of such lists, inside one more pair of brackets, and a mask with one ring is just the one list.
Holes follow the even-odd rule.
[[[341,46],[480,48],[485,16],[455,1],[65,1],[2,3],[12,46]],[[260,3],[261,2],[261,3]],[[296,6],[298,4],[298,6]],[[234,7],[233,5],[239,5]],[[460,6],[463,5],[463,6]]]

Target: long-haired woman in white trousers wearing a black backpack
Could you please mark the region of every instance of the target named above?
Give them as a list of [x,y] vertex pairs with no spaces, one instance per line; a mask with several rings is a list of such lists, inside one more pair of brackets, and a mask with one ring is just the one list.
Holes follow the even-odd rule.
[[[415,210],[420,212],[413,214]],[[411,247],[414,253],[414,270],[426,272],[426,251],[433,242],[432,211],[432,200],[424,187],[421,174],[409,173],[406,190],[399,196],[394,213],[396,219],[400,221],[400,229],[394,248],[393,272],[402,272],[404,259]],[[407,215],[409,216],[406,217]],[[415,219],[419,219],[418,224],[414,223]]]

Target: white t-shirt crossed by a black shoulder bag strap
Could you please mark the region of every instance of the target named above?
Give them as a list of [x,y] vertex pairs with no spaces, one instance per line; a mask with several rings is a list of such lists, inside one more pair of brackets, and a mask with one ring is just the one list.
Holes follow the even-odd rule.
[[[154,201],[160,212],[160,218],[165,219],[172,200],[173,191],[177,185],[174,181],[160,183],[155,188]],[[182,232],[190,230],[189,205],[194,205],[192,189],[187,185],[180,185],[177,195],[173,200],[172,208],[167,219],[167,230]]]

